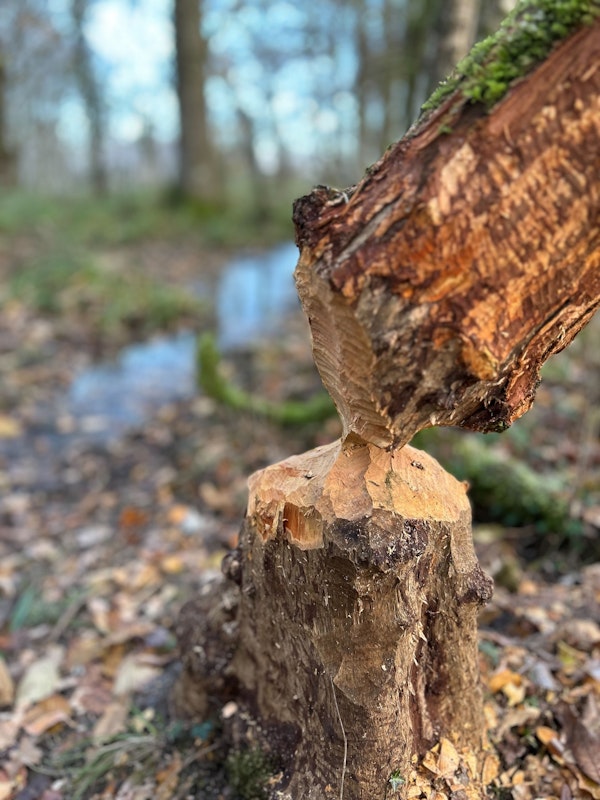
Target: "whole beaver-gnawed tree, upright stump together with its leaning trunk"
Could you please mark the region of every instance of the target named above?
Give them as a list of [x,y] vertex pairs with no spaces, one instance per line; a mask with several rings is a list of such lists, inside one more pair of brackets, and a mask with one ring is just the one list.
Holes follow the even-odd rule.
[[599,64],[596,21],[493,109],[459,85],[357,187],[296,204],[298,290],[343,437],[252,476],[227,577],[179,631],[184,702],[235,700],[231,730],[279,756],[274,797],[418,796],[435,742],[442,788],[482,795],[491,582],[466,487],[406,443],[510,424],[597,308]]

